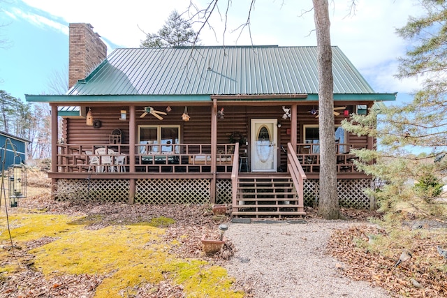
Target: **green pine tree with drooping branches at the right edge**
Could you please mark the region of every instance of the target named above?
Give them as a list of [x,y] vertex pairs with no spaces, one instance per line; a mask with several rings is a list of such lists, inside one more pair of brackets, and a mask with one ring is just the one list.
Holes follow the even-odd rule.
[[385,182],[372,193],[383,211],[406,206],[422,216],[444,218],[446,204],[434,197],[441,195],[447,168],[447,5],[444,0],[420,3],[425,14],[409,17],[397,29],[411,45],[400,58],[397,77],[417,77],[420,90],[410,103],[375,105],[366,116],[353,115],[343,125],[379,140],[377,151],[356,154],[361,170]]

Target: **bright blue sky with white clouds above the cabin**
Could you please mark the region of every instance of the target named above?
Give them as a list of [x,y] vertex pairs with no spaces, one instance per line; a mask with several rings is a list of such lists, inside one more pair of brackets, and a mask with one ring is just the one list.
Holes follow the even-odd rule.
[[[203,6],[207,1],[196,1]],[[203,45],[316,45],[311,0],[257,0],[251,13],[251,37],[247,28],[249,0],[233,1],[228,29],[214,15],[213,33],[206,27]],[[296,3],[298,2],[298,3]],[[336,2],[336,3],[335,3]],[[395,34],[418,7],[409,0],[360,0],[354,15],[348,15],[349,0],[330,1],[331,39],[353,62],[377,92],[398,92],[398,100],[418,86],[416,80],[400,81],[393,75],[397,57],[408,45]],[[145,32],[155,33],[173,9],[186,10],[186,0],[0,0],[0,89],[12,96],[50,93],[54,73],[68,69],[68,24],[87,22],[108,45],[138,47]],[[221,12],[225,8],[221,7]],[[399,12],[399,13],[396,13]],[[198,27],[196,28],[196,30]]]

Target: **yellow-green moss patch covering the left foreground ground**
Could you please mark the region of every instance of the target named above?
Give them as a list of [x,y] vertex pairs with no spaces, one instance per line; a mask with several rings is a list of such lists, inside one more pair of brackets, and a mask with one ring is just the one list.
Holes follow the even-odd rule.
[[[147,225],[110,225],[87,230],[85,225],[100,218],[46,214],[17,214],[10,217],[13,241],[41,237],[57,240],[31,249],[34,266],[45,274],[97,274],[106,276],[95,297],[135,295],[138,286],[156,285],[169,278],[183,285],[186,297],[243,297],[231,290],[233,279],[226,269],[202,260],[182,260],[169,253],[173,243],[161,238],[165,230],[156,228],[174,223],[171,218],[154,218]],[[6,222],[6,220],[3,220]],[[4,231],[5,229],[3,229]],[[0,236],[3,244],[8,232]],[[3,255],[0,256],[3,258]],[[3,271],[13,268],[1,267]]]

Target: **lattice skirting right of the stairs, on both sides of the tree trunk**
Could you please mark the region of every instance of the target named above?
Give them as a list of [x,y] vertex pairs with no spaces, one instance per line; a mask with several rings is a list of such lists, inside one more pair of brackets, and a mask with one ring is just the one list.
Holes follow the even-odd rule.
[[[304,186],[305,205],[318,204],[319,180],[307,179]],[[337,192],[340,206],[369,209],[374,202],[365,194],[365,189],[371,187],[372,179],[338,179]]]

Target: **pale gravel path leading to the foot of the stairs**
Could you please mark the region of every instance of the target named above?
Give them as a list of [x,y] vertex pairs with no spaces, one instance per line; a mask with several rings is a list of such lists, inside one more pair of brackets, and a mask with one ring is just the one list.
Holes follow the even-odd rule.
[[390,297],[386,290],[342,275],[325,254],[330,233],[346,221],[230,223],[226,237],[235,245],[228,274],[254,290],[254,297]]

